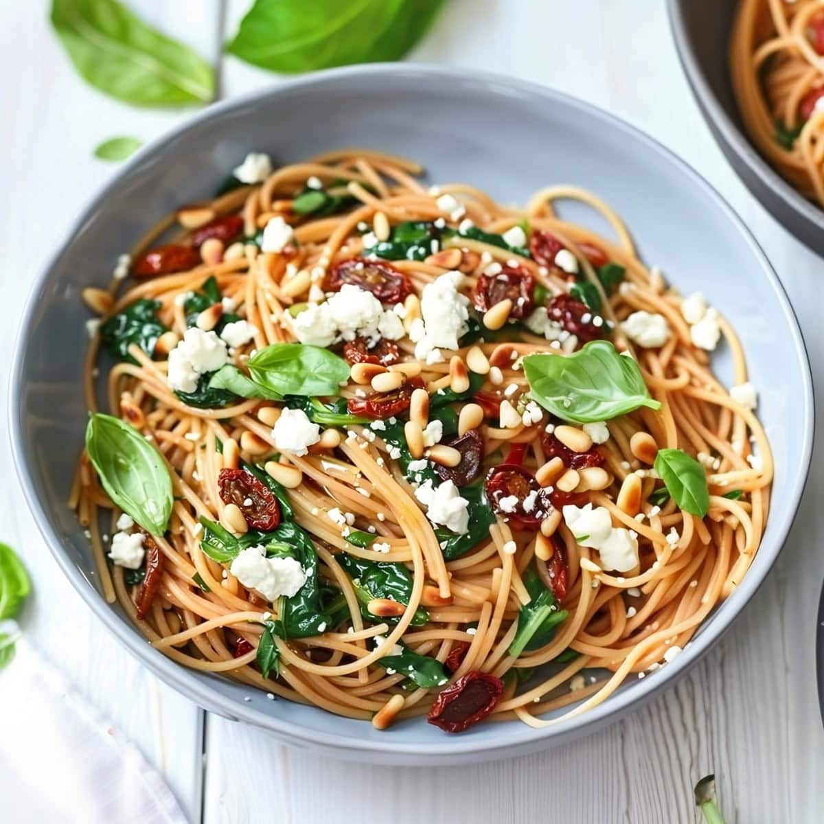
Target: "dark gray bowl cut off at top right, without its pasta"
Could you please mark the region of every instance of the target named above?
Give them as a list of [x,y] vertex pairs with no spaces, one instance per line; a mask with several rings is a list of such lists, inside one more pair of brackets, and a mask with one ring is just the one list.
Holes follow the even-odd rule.
[[761,157],[738,114],[727,58],[736,6],[737,0],[667,0],[681,65],[709,129],[747,188],[784,228],[824,255],[824,210]]

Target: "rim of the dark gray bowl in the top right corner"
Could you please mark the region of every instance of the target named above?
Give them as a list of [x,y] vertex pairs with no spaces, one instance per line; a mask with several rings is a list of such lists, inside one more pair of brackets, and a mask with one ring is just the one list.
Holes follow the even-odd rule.
[[[704,68],[696,58],[695,49],[693,49],[691,39],[686,32],[684,7],[684,0],[667,0],[670,29],[672,30],[672,38],[675,40],[678,57],[681,60],[681,66],[684,68],[695,98],[704,111],[705,119],[709,120],[709,124],[714,125],[719,130],[723,141],[746,164],[747,171],[761,180],[786,208],[793,209],[801,218],[808,221],[813,228],[824,232],[824,208],[805,198],[770,166],[761,155],[761,152],[758,152],[755,144],[747,137],[747,134],[728,115],[727,110],[719,102],[718,96],[709,86]],[[737,169],[735,171],[742,178]],[[742,179],[742,182],[747,185],[747,190],[756,196],[756,200],[761,206],[770,212],[784,229],[795,233],[794,230],[784,226],[783,222],[775,216],[773,208],[770,208],[761,200],[761,197],[753,190],[750,181]],[[807,241],[803,241],[803,243],[805,246],[810,246]]]

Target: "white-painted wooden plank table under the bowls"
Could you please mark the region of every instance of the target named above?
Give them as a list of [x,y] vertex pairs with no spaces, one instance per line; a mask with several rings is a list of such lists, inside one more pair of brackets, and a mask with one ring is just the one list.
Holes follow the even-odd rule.
[[[219,53],[249,3],[129,0],[213,60],[224,97],[278,82]],[[31,279],[91,191],[117,171],[94,160],[92,148],[115,134],[152,138],[186,116],[133,110],[86,87],[49,30],[46,6],[0,2],[0,386],[7,386],[3,370]],[[685,157],[770,256],[824,386],[824,264],[751,199],[723,160],[681,74],[662,0],[450,0],[414,58],[544,82],[615,112]],[[695,241],[685,227],[685,242]],[[5,415],[6,405],[0,410]],[[776,569],[676,689],[563,749],[411,770],[283,747],[163,686],[94,620],[57,569],[16,489],[6,426],[0,437],[7,479],[0,540],[22,551],[34,579],[26,632],[162,770],[193,822],[693,822],[692,784],[713,770],[728,822],[824,818],[813,645],[824,578],[820,448]],[[26,820],[22,813],[8,820]]]

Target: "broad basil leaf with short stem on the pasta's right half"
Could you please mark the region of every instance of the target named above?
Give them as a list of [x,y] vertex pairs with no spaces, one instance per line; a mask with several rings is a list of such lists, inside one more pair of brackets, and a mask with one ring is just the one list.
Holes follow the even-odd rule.
[[592,340],[569,357],[531,354],[523,360],[531,396],[556,417],[575,424],[592,424],[648,406],[649,396],[634,358],[620,355],[606,340]]

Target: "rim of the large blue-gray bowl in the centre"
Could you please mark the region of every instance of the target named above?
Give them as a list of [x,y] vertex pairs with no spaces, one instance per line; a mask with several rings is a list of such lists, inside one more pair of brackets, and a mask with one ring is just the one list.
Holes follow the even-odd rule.
[[[461,737],[445,736],[442,742],[433,744],[420,742],[405,743],[391,736],[387,736],[385,741],[377,742],[359,739],[358,737],[342,733],[315,730],[286,719],[276,719],[269,714],[260,712],[246,702],[238,702],[214,691],[208,680],[202,679],[194,671],[181,666],[170,658],[166,658],[159,650],[151,648],[143,636],[138,633],[138,630],[123,620],[118,613],[111,609],[110,605],[104,601],[100,592],[90,586],[87,578],[82,574],[81,570],[73,564],[68,553],[63,550],[62,541],[50,522],[44,504],[40,502],[32,480],[30,468],[26,462],[23,446],[24,421],[21,395],[26,376],[22,370],[27,344],[26,330],[30,328],[30,319],[36,308],[36,299],[44,288],[45,283],[49,279],[49,274],[52,269],[54,269],[60,256],[63,255],[68,249],[68,246],[71,245],[74,234],[82,227],[90,215],[101,207],[101,204],[105,204],[105,200],[108,198],[110,192],[119,185],[120,180],[122,180],[124,176],[128,175],[135,167],[142,165],[145,159],[162,152],[169,143],[181,138],[185,133],[191,129],[196,129],[201,124],[204,124],[204,122],[219,115],[226,115],[227,113],[232,113],[232,111],[242,110],[250,104],[260,105],[277,100],[283,91],[293,91],[295,89],[317,86],[330,87],[333,89],[341,85],[345,87],[346,83],[352,78],[367,78],[372,79],[372,82],[385,83],[387,77],[404,76],[414,77],[416,80],[433,80],[437,78],[438,81],[461,82],[481,90],[484,87],[486,87],[487,90],[491,87],[503,88],[510,94],[514,93],[518,96],[528,97],[541,105],[560,104],[564,105],[564,107],[580,110],[585,115],[602,121],[607,129],[623,133],[632,142],[647,152],[653,152],[662,157],[663,160],[674,164],[681,172],[681,175],[690,179],[693,185],[702,190],[706,198],[713,201],[714,204],[721,209],[728,222],[737,228],[743,240],[746,241],[753,258],[761,264],[761,269],[766,279],[775,290],[777,298],[776,309],[782,312],[786,318],[793,348],[802,372],[803,386],[800,399],[804,423],[802,431],[802,461],[794,471],[793,477],[788,480],[788,485],[791,488],[790,500],[794,503],[783,513],[772,513],[771,517],[775,522],[774,529],[777,529],[777,532],[770,547],[760,550],[760,569],[757,569],[755,573],[750,570],[749,574],[744,576],[742,583],[737,587],[735,592],[718,607],[715,613],[716,620],[712,620],[709,624],[705,624],[702,627],[700,635],[698,636],[700,643],[698,643],[696,639],[695,643],[691,644],[681,655],[670,662],[664,670],[665,674],[659,675],[657,678],[644,679],[643,681],[636,680],[624,691],[612,695],[610,700],[589,710],[587,713],[559,721],[545,728],[535,729],[523,725],[522,728],[516,728],[515,731],[508,730],[496,737],[493,742],[485,742],[483,748],[480,750],[478,749],[478,742],[475,742],[472,737],[461,739]],[[287,742],[300,742],[311,747],[321,747],[327,751],[336,750],[341,753],[346,751],[349,751],[349,753],[358,752],[362,756],[367,756],[370,752],[384,756],[390,755],[395,756],[395,763],[424,763],[425,759],[425,763],[428,765],[438,763],[448,764],[456,763],[455,756],[463,756],[464,761],[481,761],[509,754],[506,751],[513,752],[520,750],[527,752],[534,751],[541,747],[549,747],[554,743],[563,742],[571,737],[579,737],[585,733],[592,732],[593,729],[605,725],[611,720],[617,720],[631,708],[637,708],[644,703],[644,700],[658,694],[658,692],[662,691],[665,687],[672,686],[677,679],[686,673],[686,671],[714,645],[719,637],[728,630],[733,620],[740,614],[743,607],[750,601],[753,594],[761,586],[761,583],[763,583],[766,575],[775,563],[775,559],[781,548],[784,546],[789,528],[794,521],[809,471],[812,457],[814,421],[812,375],[808,354],[801,330],[798,326],[798,320],[789,303],[789,298],[755,238],[751,236],[751,233],[741,218],[738,218],[733,208],[727,204],[714,187],[685,161],[664,147],[662,143],[658,143],[657,140],[649,137],[640,129],[617,118],[615,115],[599,109],[597,106],[580,101],[562,92],[555,91],[550,87],[544,87],[514,77],[506,77],[496,73],[470,68],[442,67],[427,63],[377,63],[328,69],[323,72],[311,73],[290,79],[286,82],[279,83],[279,85],[274,88],[266,87],[250,91],[241,96],[232,97],[227,101],[220,101],[217,104],[208,106],[194,116],[186,118],[185,121],[175,129],[163,133],[136,152],[115,176],[98,188],[96,193],[91,196],[91,199],[87,200],[86,206],[78,212],[78,215],[79,216],[72,222],[72,225],[68,227],[66,236],[64,236],[63,241],[59,244],[58,249],[53,255],[49,256],[49,260],[47,260],[40,274],[35,279],[35,283],[33,283],[30,288],[30,293],[26,298],[26,306],[21,315],[21,323],[16,332],[14,359],[11,370],[12,387],[9,393],[9,428],[12,442],[12,456],[15,462],[17,476],[21,482],[21,487],[26,498],[26,503],[35,517],[44,541],[49,545],[49,550],[52,555],[54,555],[60,568],[63,569],[63,573],[66,574],[83,600],[91,607],[91,611],[93,611],[101,620],[101,623],[113,632],[120,642],[141,662],[146,664],[152,672],[157,674],[157,676],[162,678],[167,684],[173,686],[191,700],[194,700],[201,707],[221,714],[224,717],[241,720],[246,723],[251,723],[256,727],[269,730]],[[318,711],[320,712],[321,710]]]

